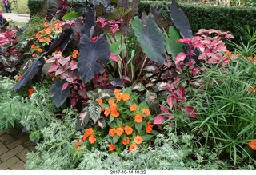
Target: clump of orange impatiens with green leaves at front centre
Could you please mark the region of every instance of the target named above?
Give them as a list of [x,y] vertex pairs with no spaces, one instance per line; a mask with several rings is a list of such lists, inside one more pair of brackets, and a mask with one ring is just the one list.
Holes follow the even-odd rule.
[[[94,126],[94,129],[101,133],[98,137],[102,140],[107,138],[108,151],[120,153],[128,149],[136,152],[140,146],[150,145],[157,132],[153,132],[154,117],[146,101],[138,101],[138,94],[133,93],[130,88],[114,89],[112,92],[95,100],[101,110],[98,120],[105,120],[106,127]],[[94,129],[86,129],[83,138],[77,141],[75,147],[78,148],[88,137],[90,144],[94,144],[94,134],[97,134]]]

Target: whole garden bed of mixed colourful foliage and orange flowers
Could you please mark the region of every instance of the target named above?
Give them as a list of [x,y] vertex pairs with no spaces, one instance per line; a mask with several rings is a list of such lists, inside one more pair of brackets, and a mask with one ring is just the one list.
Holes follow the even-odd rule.
[[0,129],[30,133],[26,169],[255,169],[256,32],[99,2],[0,35]]

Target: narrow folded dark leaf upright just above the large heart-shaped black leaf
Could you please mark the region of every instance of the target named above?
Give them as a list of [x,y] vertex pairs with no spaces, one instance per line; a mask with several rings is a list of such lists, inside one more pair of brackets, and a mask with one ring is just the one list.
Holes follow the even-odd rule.
[[91,37],[91,29],[95,26],[95,15],[94,9],[90,8],[90,6],[86,7],[86,12],[83,14],[83,25],[81,32],[85,34],[88,38]]

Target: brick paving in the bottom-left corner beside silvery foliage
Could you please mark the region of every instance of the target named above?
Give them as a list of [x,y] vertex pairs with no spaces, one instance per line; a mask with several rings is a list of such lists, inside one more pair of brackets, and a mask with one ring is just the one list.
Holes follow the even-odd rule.
[[26,153],[34,151],[29,136],[22,129],[12,129],[10,133],[0,132],[0,170],[23,170]]

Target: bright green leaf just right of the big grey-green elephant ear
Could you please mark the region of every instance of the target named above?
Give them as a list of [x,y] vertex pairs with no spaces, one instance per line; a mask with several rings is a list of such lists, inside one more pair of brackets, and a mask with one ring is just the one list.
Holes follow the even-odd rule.
[[166,40],[166,51],[168,54],[173,56],[173,60],[175,61],[178,53],[184,52],[183,46],[186,46],[184,43],[177,42],[178,39],[182,37],[179,34],[179,31],[171,26],[169,29],[169,33],[164,32],[165,40]]

